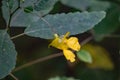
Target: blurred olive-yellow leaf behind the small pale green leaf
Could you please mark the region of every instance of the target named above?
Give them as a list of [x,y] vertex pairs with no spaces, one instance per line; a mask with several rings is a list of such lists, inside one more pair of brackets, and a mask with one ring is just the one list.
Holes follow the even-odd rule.
[[93,59],[93,62],[91,64],[87,64],[88,67],[105,70],[111,70],[114,68],[114,64],[110,59],[109,53],[104,48],[91,44],[86,44],[82,48],[89,51]]

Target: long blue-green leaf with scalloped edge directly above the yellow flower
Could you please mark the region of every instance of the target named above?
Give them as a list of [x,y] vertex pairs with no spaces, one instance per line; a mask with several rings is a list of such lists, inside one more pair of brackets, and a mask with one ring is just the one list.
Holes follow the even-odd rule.
[[54,38],[53,31],[59,35],[63,35],[66,32],[75,35],[90,30],[104,17],[104,11],[47,15],[44,19],[49,23],[49,26],[48,23],[39,19],[26,28],[25,34],[45,39]]

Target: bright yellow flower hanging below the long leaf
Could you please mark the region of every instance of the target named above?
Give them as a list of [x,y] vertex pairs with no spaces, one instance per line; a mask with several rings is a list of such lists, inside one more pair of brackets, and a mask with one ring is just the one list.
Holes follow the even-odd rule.
[[79,51],[81,46],[78,42],[78,38],[77,37],[68,38],[69,34],[70,32],[67,32],[65,35],[62,36],[54,34],[55,39],[50,43],[49,46],[53,46],[57,49],[63,50],[65,58],[67,60],[70,60],[70,62],[74,62],[75,54],[71,50]]

